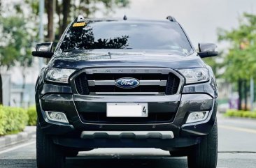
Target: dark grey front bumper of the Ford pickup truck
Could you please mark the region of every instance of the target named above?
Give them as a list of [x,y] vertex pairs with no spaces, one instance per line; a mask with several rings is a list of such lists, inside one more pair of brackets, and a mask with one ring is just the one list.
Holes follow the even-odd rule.
[[[41,89],[36,91],[36,108],[38,121],[41,128],[54,137],[55,144],[76,148],[99,148],[99,147],[183,147],[192,146],[200,142],[202,135],[207,135],[213,128],[215,122],[217,102],[214,91],[208,88],[209,93],[202,93],[202,85],[195,84],[195,89],[183,89],[183,93],[173,96],[130,96],[130,98],[116,96],[78,96],[73,95],[69,86],[57,86],[54,84],[43,84]],[[192,92],[190,92],[192,91]],[[198,91],[198,92],[197,92]],[[205,91],[205,90],[204,90]],[[132,98],[131,98],[132,97]],[[120,100],[121,98],[121,100]],[[106,102],[148,102],[152,109],[162,107],[177,107],[173,110],[175,118],[168,123],[139,123],[139,124],[110,124],[110,123],[85,123],[80,119],[78,112],[83,109],[83,105],[92,111],[104,111]],[[103,104],[103,105],[102,105]],[[94,108],[93,108],[94,107]],[[65,112],[69,119],[69,124],[55,123],[48,121],[45,111]],[[189,112],[210,111],[208,118],[199,123],[185,124]],[[171,111],[172,112],[172,111]],[[171,131],[173,139],[161,138],[120,138],[108,139],[106,137],[94,139],[82,139],[83,131]],[[102,143],[104,142],[104,143]]]

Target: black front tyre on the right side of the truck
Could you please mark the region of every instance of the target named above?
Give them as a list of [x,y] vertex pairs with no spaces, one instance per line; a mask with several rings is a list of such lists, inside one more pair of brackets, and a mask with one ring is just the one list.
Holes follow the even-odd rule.
[[217,120],[211,132],[204,136],[200,144],[192,148],[187,156],[189,168],[216,168],[218,160],[218,128]]

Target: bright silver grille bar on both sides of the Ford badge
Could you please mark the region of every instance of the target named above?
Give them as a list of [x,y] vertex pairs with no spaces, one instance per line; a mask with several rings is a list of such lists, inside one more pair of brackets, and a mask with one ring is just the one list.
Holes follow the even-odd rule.
[[[166,86],[167,80],[140,80],[140,85],[156,85],[156,86]],[[115,85],[115,80],[88,80],[89,86],[102,86],[102,85]]]

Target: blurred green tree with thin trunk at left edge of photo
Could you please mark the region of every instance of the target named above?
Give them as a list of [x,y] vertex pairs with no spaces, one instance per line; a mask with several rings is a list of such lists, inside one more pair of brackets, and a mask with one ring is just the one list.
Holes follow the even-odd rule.
[[[10,4],[0,11],[0,66],[1,70],[9,70],[12,66],[19,65],[23,77],[22,88],[24,89],[25,70],[32,63],[31,46],[36,36],[36,22],[33,15],[24,15],[22,8],[29,7],[25,3]],[[0,96],[2,94],[1,83],[0,81]],[[2,104],[1,100],[2,97],[0,104]]]

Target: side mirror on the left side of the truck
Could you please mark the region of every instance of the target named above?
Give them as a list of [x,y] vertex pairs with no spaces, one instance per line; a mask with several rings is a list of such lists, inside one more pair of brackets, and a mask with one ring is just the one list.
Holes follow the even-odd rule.
[[53,55],[52,46],[52,42],[37,44],[36,51],[32,52],[32,56],[50,59]]

